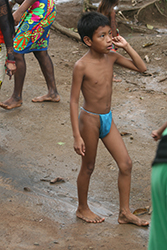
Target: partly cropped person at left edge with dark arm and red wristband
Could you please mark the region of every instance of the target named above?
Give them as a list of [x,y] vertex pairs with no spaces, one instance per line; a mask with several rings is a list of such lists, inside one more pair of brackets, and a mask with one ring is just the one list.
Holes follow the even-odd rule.
[[6,73],[11,79],[16,71],[13,53],[14,20],[7,0],[0,0],[0,87]]

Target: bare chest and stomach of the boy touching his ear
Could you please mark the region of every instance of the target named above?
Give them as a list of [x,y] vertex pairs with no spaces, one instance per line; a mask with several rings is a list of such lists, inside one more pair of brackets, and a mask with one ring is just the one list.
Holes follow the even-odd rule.
[[113,55],[103,55],[97,60],[88,52],[78,63],[83,67],[81,90],[84,96],[83,107],[98,114],[108,113],[111,109]]

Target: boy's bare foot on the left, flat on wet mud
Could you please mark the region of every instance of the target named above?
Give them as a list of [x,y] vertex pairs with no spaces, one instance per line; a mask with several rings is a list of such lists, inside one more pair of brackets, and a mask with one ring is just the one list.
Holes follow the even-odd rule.
[[100,216],[94,214],[90,209],[77,210],[76,216],[88,223],[101,223],[105,220],[105,218],[101,218]]

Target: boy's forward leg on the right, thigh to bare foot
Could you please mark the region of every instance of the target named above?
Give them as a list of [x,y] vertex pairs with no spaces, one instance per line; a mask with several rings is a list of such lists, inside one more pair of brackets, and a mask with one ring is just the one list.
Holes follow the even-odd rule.
[[149,224],[147,221],[139,219],[129,209],[132,162],[114,121],[112,121],[109,134],[102,141],[119,167],[120,212],[118,222],[120,224],[133,223],[138,226],[147,226]]

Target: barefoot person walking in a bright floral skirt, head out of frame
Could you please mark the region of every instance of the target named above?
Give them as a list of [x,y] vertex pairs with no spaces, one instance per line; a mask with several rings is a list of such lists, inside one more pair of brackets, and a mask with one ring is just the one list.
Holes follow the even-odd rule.
[[22,90],[26,74],[24,54],[30,52],[33,52],[38,60],[48,87],[46,95],[36,97],[32,101],[60,101],[55,83],[53,64],[47,52],[50,27],[55,17],[56,7],[54,0],[24,0],[13,13],[15,25],[18,25],[16,36],[14,37],[17,70],[13,94],[8,100],[0,103],[2,108],[12,109],[22,105]]

